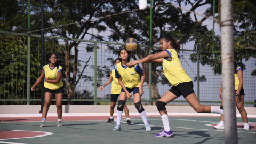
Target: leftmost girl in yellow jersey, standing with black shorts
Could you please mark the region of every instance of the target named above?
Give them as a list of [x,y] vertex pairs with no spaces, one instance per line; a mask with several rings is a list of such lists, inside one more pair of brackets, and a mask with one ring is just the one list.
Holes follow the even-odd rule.
[[58,56],[55,53],[50,54],[50,63],[43,66],[41,76],[31,87],[31,91],[35,91],[35,87],[44,79],[44,108],[42,113],[42,123],[40,127],[45,127],[45,119],[48,109],[51,105],[53,94],[55,93],[56,107],[58,113],[57,126],[62,126],[62,97],[64,93],[63,83],[61,81],[62,67],[59,65]]

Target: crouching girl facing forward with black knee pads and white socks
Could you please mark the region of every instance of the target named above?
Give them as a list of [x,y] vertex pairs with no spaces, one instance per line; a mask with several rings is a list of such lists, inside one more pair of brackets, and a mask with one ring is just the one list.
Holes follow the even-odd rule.
[[146,112],[141,105],[141,96],[144,93],[142,86],[145,80],[145,73],[139,65],[134,65],[132,68],[128,68],[127,63],[130,61],[130,55],[126,49],[119,51],[119,58],[122,59],[122,61],[118,63],[114,69],[115,77],[118,79],[118,83],[121,85],[122,89],[117,106],[116,125],[113,131],[121,130],[120,123],[123,109],[126,99],[130,99],[132,96],[131,92],[133,92],[134,105],[140,113],[140,116],[145,124],[146,131],[152,131],[147,121]]

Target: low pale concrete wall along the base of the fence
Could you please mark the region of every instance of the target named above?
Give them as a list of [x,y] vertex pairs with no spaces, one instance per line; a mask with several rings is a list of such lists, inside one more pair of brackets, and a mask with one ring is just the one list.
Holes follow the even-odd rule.
[[[130,113],[138,113],[133,105],[127,107]],[[156,106],[143,107],[147,113],[158,113]],[[38,114],[40,109],[40,105],[0,105],[0,114]],[[109,113],[110,105],[63,105],[62,109],[63,113]],[[169,113],[196,113],[191,106],[166,106],[166,109]],[[256,115],[255,107],[245,107],[245,110],[248,115]],[[51,105],[48,113],[57,113],[56,107]],[[237,109],[236,114],[239,114]]]

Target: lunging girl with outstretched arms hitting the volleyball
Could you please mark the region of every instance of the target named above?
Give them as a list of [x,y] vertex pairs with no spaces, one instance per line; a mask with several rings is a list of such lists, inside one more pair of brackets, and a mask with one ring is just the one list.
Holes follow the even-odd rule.
[[180,50],[180,45],[174,36],[163,36],[160,39],[160,47],[163,50],[162,52],[128,63],[129,67],[132,65],[138,65],[138,63],[163,63],[164,76],[168,79],[171,85],[173,85],[171,89],[156,102],[157,109],[164,124],[163,131],[157,134],[156,137],[170,137],[172,135],[165,105],[180,97],[180,95],[183,95],[183,97],[198,113],[218,113],[223,115],[222,109],[211,106],[202,106],[198,102],[193,90],[193,82],[186,74],[186,71],[183,70],[178,58],[176,50]]

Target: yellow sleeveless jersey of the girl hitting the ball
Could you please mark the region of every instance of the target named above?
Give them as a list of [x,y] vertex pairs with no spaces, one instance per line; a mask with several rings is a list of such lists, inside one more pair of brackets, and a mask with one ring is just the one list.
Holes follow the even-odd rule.
[[192,81],[191,78],[183,70],[180,60],[178,58],[177,51],[175,49],[164,50],[170,55],[170,60],[164,58],[163,60],[163,74],[173,86],[177,86],[179,83],[185,83]]

